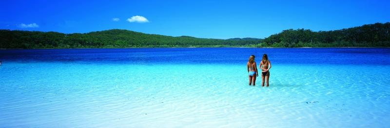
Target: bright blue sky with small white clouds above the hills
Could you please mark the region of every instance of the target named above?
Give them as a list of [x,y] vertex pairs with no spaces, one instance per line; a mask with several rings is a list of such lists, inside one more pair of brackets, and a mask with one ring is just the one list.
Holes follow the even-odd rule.
[[389,7],[390,0],[0,0],[0,29],[264,38],[390,22]]

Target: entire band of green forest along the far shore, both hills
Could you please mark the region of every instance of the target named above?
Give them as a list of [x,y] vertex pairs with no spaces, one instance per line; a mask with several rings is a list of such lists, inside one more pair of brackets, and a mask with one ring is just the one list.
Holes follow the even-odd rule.
[[205,39],[128,30],[89,33],[0,30],[0,48],[390,47],[390,22],[335,31],[284,30],[265,39]]

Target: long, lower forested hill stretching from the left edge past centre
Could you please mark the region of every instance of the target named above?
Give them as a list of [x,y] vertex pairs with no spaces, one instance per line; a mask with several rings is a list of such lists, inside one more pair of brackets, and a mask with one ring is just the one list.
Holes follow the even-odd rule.
[[0,30],[0,48],[255,47],[260,43],[261,39],[173,37],[118,29],[72,34]]

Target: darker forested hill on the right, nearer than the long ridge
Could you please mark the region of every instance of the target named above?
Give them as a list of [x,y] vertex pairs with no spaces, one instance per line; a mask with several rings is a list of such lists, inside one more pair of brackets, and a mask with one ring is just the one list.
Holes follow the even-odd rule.
[[284,30],[258,47],[390,47],[390,22],[335,31]]

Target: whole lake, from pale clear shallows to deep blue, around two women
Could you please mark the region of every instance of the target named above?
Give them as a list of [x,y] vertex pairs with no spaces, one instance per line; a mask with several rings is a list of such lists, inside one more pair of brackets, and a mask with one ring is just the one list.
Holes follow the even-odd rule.
[[[251,54],[270,87],[248,85]],[[390,48],[0,50],[0,127],[386,128]]]

